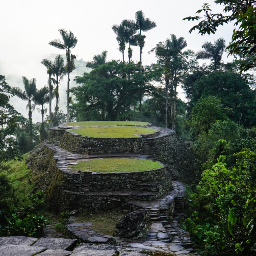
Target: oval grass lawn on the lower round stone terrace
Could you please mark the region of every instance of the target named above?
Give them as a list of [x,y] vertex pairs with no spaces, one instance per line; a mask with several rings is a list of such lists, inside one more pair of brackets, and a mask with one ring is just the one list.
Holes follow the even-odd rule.
[[69,165],[74,170],[95,171],[95,172],[131,172],[146,171],[161,168],[158,162],[134,158],[105,158],[93,159],[79,162],[76,165]]

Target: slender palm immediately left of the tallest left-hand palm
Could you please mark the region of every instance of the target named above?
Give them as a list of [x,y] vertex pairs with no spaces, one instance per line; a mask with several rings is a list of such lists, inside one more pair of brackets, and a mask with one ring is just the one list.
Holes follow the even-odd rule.
[[59,54],[56,56],[55,61],[52,65],[53,75],[56,75],[56,80],[54,83],[56,84],[56,88],[54,90],[56,96],[56,106],[55,106],[55,113],[54,113],[54,120],[53,125],[56,125],[56,116],[58,112],[58,103],[59,103],[59,84],[60,81],[63,79],[63,76],[67,73],[66,65],[64,64],[63,57]]

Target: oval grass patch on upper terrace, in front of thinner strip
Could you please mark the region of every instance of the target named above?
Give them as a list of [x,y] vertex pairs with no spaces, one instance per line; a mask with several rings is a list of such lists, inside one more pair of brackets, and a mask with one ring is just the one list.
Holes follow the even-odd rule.
[[136,126],[108,126],[108,127],[89,127],[71,129],[71,132],[81,134],[82,136],[96,138],[136,138],[138,134],[150,134],[157,130],[146,127]]

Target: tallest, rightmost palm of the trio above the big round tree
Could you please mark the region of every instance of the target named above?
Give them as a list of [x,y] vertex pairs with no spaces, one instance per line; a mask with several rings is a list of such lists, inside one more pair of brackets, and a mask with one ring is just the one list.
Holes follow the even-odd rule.
[[137,35],[137,43],[140,46],[140,67],[142,66],[142,61],[141,61],[141,55],[142,55],[142,48],[145,45],[145,37],[144,35],[141,34],[142,31],[146,32],[149,31],[153,28],[157,27],[157,24],[153,21],[151,21],[149,18],[145,19],[144,13],[142,11],[138,11],[135,14],[135,19],[136,19],[136,27],[139,30],[139,34]]

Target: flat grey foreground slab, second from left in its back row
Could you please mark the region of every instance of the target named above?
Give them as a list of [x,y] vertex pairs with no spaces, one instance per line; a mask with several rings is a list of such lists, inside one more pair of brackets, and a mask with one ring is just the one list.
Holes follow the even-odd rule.
[[66,238],[46,238],[41,237],[39,240],[34,244],[34,246],[40,246],[47,249],[55,250],[55,249],[63,249],[63,250],[70,250],[75,246],[75,243],[78,240],[76,239],[66,239]]

